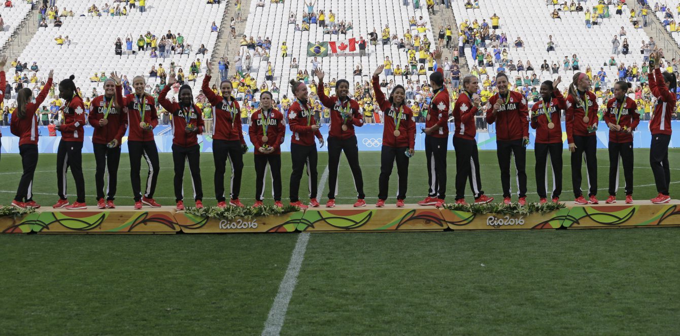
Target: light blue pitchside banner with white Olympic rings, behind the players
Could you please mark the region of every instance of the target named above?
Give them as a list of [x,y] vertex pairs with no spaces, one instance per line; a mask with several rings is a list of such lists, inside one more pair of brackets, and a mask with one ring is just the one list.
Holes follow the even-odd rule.
[[[671,148],[680,147],[680,121],[671,122],[671,126],[676,132],[673,132],[673,136],[670,138]],[[425,124],[418,124],[416,126],[415,135],[415,150],[423,151],[425,149],[424,141],[425,134],[420,132],[421,128],[424,128]],[[169,126],[158,126],[154,130],[156,134],[156,146],[158,151],[161,153],[170,153],[172,151],[172,134],[167,130]],[[564,130],[564,122],[562,123],[562,130]],[[366,124],[363,127],[354,128],[356,131],[357,146],[360,151],[380,151],[382,147],[382,124]],[[2,146],[0,147],[0,153],[19,153],[19,138],[10,133],[10,126],[0,126],[0,131],[3,136],[0,138],[2,141]],[[165,132],[164,132],[165,131]],[[321,128],[321,134],[324,139],[328,138],[328,125],[323,125]],[[452,138],[453,138],[454,124],[449,123],[449,150],[453,150]],[[163,135],[157,135],[157,134]],[[39,134],[48,134],[48,129],[46,126],[39,126]],[[292,133],[288,128],[286,128],[286,141],[281,146],[282,151],[290,151],[290,138]],[[600,122],[599,130],[596,132],[598,148],[607,148],[607,143],[609,143],[609,128],[604,122]],[[638,130],[634,132],[633,146],[635,148],[649,148],[649,143],[651,143],[651,133],[649,132],[649,122],[640,122]],[[245,138],[245,143],[252,151],[252,143],[250,143],[250,138],[248,137],[248,126],[243,126],[243,138]],[[536,138],[536,132],[529,129],[529,141],[528,149],[534,149],[534,141]],[[38,143],[39,153],[56,153],[56,149],[59,145],[61,136],[40,136],[40,141]],[[122,152],[127,153],[127,137],[123,138]],[[562,132],[562,142],[564,149],[568,149],[566,143],[566,133]],[[199,143],[201,145],[202,152],[212,151],[212,138],[209,134],[204,134],[199,136]],[[480,150],[496,149],[496,133],[495,132],[477,132],[477,147]],[[326,146],[318,148],[318,151],[326,151]],[[85,128],[85,141],[83,145],[83,153],[93,153],[92,151],[92,127],[86,126]]]

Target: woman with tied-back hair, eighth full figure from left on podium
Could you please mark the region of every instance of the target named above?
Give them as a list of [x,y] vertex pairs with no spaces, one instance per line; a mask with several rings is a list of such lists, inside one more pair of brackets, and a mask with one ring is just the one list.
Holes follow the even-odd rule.
[[309,104],[307,97],[308,90],[305,83],[301,81],[290,80],[290,90],[295,96],[295,101],[288,109],[288,127],[293,132],[290,138],[290,160],[292,161],[292,172],[290,173],[290,205],[299,206],[300,208],[307,208],[305,204],[300,202],[298,191],[300,189],[300,180],[302,179],[302,172],[307,166],[307,175],[309,176],[309,206],[318,207],[319,202],[316,200],[316,184],[318,173],[316,171],[316,162],[318,156],[316,153],[316,146],[314,145],[314,137],[318,138],[321,146],[324,145],[324,138],[319,132],[321,126],[316,124],[314,119],[313,107]]

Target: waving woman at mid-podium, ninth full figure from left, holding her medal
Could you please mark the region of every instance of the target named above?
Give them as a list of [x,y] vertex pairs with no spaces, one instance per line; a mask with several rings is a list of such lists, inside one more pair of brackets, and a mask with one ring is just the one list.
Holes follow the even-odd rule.
[[364,119],[359,113],[359,104],[347,96],[350,92],[350,82],[340,79],[335,83],[337,96],[328,97],[324,92],[324,73],[316,69],[319,78],[317,93],[322,105],[330,109],[330,127],[328,128],[328,202],[326,208],[335,206],[335,196],[338,189],[338,168],[340,154],[344,151],[347,163],[352,170],[352,179],[356,188],[357,200],[354,207],[366,206],[364,198],[364,178],[359,166],[359,147],[357,146],[355,127],[364,126]]

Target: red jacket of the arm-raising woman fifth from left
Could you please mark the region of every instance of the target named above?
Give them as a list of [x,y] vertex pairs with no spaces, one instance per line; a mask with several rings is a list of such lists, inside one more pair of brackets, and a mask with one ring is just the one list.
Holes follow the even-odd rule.
[[[170,89],[171,86],[167,85],[160,91],[158,103],[160,103],[163,109],[173,115],[171,122],[173,130],[172,143],[181,147],[196,146],[199,144],[198,134],[203,134],[203,113],[196,105],[193,105],[191,109],[188,107],[182,108],[179,103],[167,100],[165,97]],[[187,117],[189,122],[186,121]],[[195,132],[185,132],[184,129],[187,124],[194,124],[197,130]]]

